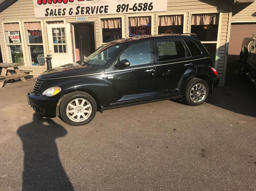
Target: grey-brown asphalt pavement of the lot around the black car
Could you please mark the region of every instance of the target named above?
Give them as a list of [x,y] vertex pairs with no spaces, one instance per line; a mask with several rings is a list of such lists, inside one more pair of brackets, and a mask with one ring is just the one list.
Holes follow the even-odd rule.
[[165,100],[97,112],[81,127],[0,89],[0,190],[256,190],[256,88],[227,78],[198,107]]

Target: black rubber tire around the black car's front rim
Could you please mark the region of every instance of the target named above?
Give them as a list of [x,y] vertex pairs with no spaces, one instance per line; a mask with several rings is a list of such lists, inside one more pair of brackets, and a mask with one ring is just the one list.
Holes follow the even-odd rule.
[[[84,118],[83,119],[85,121],[72,121],[70,119],[70,117],[68,117],[68,114],[67,114],[67,107],[68,107],[68,104],[75,100],[75,99],[85,99],[88,103],[91,104],[91,107],[88,108],[88,110],[91,111],[91,114],[88,116],[88,119]],[[87,103],[86,102],[86,103]],[[79,103],[79,104],[82,104],[82,103]],[[80,106],[79,106],[80,107]],[[70,107],[68,107],[70,108]],[[72,108],[71,108],[72,109]],[[80,109],[80,108],[78,108]],[[78,110],[76,110],[74,108],[75,111],[78,112]],[[81,109],[80,109],[81,110]],[[95,117],[95,114],[97,112],[97,105],[96,105],[96,102],[95,100],[92,98],[91,95],[89,95],[88,93],[86,92],[79,92],[79,91],[76,91],[76,92],[71,92],[71,93],[68,93],[64,99],[62,99],[62,101],[60,102],[60,117],[62,118],[62,120],[67,123],[68,125],[72,125],[72,126],[81,126],[81,125],[85,125],[87,123],[89,123],[90,121],[92,121],[92,119]],[[79,113],[79,112],[78,112]],[[81,111],[82,113],[82,111]],[[73,113],[75,114],[75,112]],[[80,113],[79,113],[80,114]],[[84,113],[83,113],[84,114]],[[78,118],[78,115],[76,116],[76,118]],[[77,119],[73,119],[73,120],[77,120]]]

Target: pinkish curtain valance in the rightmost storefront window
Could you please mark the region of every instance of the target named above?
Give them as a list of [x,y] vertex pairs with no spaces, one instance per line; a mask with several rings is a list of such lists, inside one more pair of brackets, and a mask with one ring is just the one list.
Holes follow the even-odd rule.
[[218,25],[219,14],[208,13],[208,14],[195,14],[192,15],[192,25]]

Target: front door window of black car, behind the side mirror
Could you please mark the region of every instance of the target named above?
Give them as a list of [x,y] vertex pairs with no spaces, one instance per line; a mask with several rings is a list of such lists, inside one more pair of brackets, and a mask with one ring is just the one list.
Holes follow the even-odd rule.
[[120,55],[120,61],[128,60],[130,66],[151,63],[150,42],[132,45]]

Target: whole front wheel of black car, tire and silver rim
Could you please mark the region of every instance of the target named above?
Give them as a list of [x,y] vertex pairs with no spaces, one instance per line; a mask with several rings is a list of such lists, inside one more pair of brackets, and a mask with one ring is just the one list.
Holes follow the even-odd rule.
[[60,103],[60,116],[73,126],[85,125],[92,121],[97,111],[95,100],[85,92],[68,93]]

